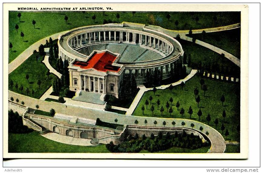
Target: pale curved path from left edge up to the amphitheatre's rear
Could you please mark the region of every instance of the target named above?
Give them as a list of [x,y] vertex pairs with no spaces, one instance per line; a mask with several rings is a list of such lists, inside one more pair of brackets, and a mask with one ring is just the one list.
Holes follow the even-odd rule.
[[28,57],[30,55],[32,55],[34,50],[38,50],[38,47],[41,44],[46,44],[46,40],[49,40],[49,38],[51,37],[53,40],[57,39],[59,35],[66,33],[67,31],[63,31],[60,33],[56,33],[53,34],[51,36],[48,36],[44,39],[41,39],[37,42],[35,42],[34,44],[32,44],[31,46],[29,46],[26,50],[24,50],[24,52],[22,52],[20,55],[18,55],[18,57],[16,57],[12,62],[10,62],[8,64],[8,74],[11,73],[12,71],[14,71],[19,65],[21,65],[26,59],[28,59]]

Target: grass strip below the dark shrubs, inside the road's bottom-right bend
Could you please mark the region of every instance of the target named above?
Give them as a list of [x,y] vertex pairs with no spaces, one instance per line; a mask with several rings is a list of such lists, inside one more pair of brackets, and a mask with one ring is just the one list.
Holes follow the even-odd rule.
[[[209,148],[210,148],[210,146],[203,146],[203,147],[197,148],[197,149],[187,149],[187,148],[180,148],[180,147],[173,146],[169,149],[157,151],[157,152],[153,152],[153,153],[207,153]],[[143,149],[139,153],[151,153],[151,152]]]

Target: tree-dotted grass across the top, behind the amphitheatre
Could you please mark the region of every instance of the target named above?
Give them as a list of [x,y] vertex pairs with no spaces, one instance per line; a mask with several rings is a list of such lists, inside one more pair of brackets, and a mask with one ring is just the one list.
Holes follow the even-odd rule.
[[[153,24],[170,30],[220,27],[240,22],[240,12],[195,12],[193,17],[190,12],[169,12],[171,17],[168,21],[167,12],[136,12],[133,17],[131,12],[105,12],[103,16],[102,12],[92,11],[86,12],[83,16],[82,11],[21,11],[21,22],[19,23],[18,11],[9,11],[9,42],[13,44],[12,52],[9,51],[9,63],[40,39],[76,27],[103,24],[104,19],[110,19],[116,23],[117,13],[120,14],[119,23],[127,21],[146,25]],[[67,24],[64,20],[65,15],[69,18]],[[95,22],[92,19],[93,15],[96,16]],[[197,16],[199,21],[196,24],[195,17]],[[216,23],[213,20],[214,16],[218,18]],[[36,21],[35,29],[32,20]],[[177,27],[174,24],[175,20],[179,22]],[[19,26],[18,33],[15,29],[16,24]],[[24,42],[20,36],[21,32],[24,33]]]

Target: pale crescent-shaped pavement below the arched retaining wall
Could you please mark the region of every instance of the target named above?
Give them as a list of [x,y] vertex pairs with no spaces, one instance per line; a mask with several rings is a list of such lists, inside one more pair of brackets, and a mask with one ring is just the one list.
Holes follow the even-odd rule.
[[54,140],[60,143],[66,143],[70,145],[93,146],[93,144],[90,143],[91,139],[64,136],[53,132],[47,134],[41,134],[41,136],[50,140]]

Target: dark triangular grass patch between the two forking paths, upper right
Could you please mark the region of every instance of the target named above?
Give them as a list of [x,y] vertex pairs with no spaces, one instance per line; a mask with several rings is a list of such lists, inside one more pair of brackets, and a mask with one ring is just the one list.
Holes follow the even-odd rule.
[[240,59],[240,28],[206,33],[204,39],[202,33],[193,34],[192,37],[219,47]]

